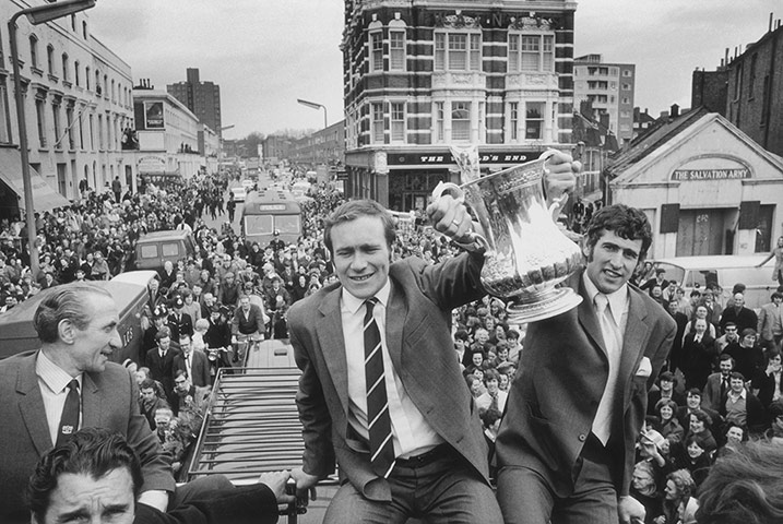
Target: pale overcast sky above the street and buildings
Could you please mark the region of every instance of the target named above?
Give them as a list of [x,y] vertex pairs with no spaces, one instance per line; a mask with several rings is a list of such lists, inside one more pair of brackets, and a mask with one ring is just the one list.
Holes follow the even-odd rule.
[[[478,1],[478,0],[476,0]],[[520,5],[526,2],[520,1]],[[319,129],[343,118],[342,0],[99,0],[92,34],[161,90],[198,68],[221,86],[224,138]],[[775,7],[778,8],[775,11]],[[580,0],[574,57],[637,66],[636,106],[657,116],[690,106],[695,69],[767,33],[780,0]]]

